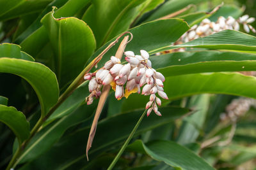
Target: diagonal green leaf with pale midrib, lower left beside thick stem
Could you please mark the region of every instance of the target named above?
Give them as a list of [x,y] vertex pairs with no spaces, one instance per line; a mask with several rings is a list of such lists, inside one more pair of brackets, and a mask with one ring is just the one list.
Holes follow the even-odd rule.
[[39,155],[46,152],[56,143],[63,133],[73,125],[86,121],[86,124],[90,124],[93,111],[96,104],[87,106],[83,104],[77,110],[71,110],[69,115],[56,120],[56,122],[48,125],[42,131],[38,132],[36,136],[31,140],[26,150],[22,153],[17,162],[23,163],[36,159]]

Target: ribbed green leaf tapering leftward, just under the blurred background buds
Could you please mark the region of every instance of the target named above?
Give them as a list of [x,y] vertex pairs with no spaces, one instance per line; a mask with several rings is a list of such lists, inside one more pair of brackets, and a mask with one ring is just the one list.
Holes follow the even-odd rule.
[[255,36],[243,32],[225,30],[181,45],[159,48],[155,52],[172,50],[180,47],[256,51],[256,38]]

